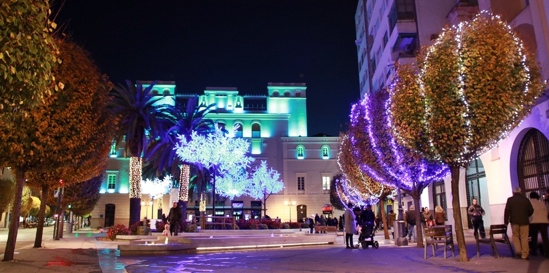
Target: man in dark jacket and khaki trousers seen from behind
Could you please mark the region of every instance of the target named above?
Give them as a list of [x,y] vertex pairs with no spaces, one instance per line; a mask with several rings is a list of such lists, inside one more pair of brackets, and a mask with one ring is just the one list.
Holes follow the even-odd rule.
[[503,222],[506,226],[511,223],[515,252],[525,260],[528,260],[528,227],[530,224],[528,218],[532,214],[534,214],[532,203],[522,195],[520,187],[514,187],[513,196],[507,198],[505,204]]

